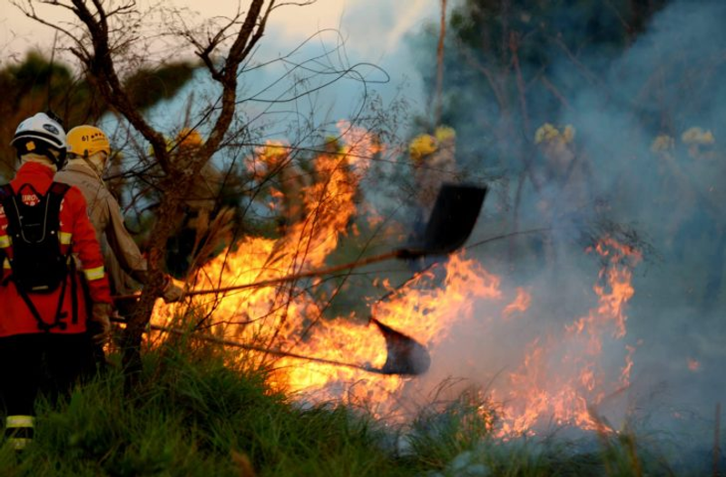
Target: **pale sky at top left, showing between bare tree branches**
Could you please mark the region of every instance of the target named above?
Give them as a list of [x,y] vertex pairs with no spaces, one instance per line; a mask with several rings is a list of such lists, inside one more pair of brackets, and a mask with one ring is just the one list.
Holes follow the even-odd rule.
[[[138,0],[141,8],[154,4],[188,7],[199,13],[199,18],[213,16],[230,17],[238,5],[248,5],[247,0]],[[284,2],[281,2],[284,3]],[[62,24],[70,16],[63,8],[39,5],[36,11],[45,18]],[[449,2],[449,5],[451,2]],[[26,51],[39,48],[49,52],[54,42],[54,30],[26,18],[11,0],[0,0],[0,66],[8,61],[21,59]],[[203,5],[203,11],[201,9]],[[384,100],[397,94],[397,88],[406,84],[404,93],[417,110],[426,103],[422,98],[420,74],[405,42],[407,34],[420,32],[427,23],[437,22],[440,0],[317,0],[312,5],[285,5],[275,10],[265,37],[260,42],[258,61],[288,54],[301,41],[322,29],[338,29],[345,41],[345,58],[341,63],[375,63],[390,76],[388,84],[375,85]],[[65,16],[63,16],[65,15]],[[309,49],[330,49],[338,43],[334,33],[326,33],[309,44]],[[433,54],[433,53],[432,53]],[[70,55],[59,54],[69,63],[75,63]],[[58,57],[58,56],[56,56]],[[383,75],[370,70],[368,79],[380,79]],[[269,79],[266,78],[266,79]],[[354,96],[357,86],[351,82],[336,84],[327,99],[333,105],[333,115],[345,117],[355,109]],[[346,109],[348,108],[348,109]]]

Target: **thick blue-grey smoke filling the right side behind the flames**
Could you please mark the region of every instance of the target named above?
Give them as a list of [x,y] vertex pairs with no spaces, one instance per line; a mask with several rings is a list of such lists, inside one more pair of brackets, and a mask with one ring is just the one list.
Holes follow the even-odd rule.
[[[505,301],[479,303],[473,319],[451,330],[431,374],[411,385],[412,395],[429,393],[446,376],[506,387],[505,376],[521,364],[527,344],[538,336],[543,342],[557,336],[595,306],[599,263],[584,248],[590,238],[610,232],[641,246],[644,260],[633,268],[627,334],[606,339],[599,361],[604,374],[613,377],[632,357],[630,385],[603,402],[599,412],[616,427],[628,419],[652,430],[678,430],[690,443],[712,443],[714,408],[726,404],[724,21],[721,1],[673,2],[619,57],[603,54],[604,74],[566,90],[567,107],[549,114],[533,108],[535,127],[545,122],[561,132],[564,125],[574,127],[568,147],[582,175],[574,169],[567,180],[548,180],[542,172],[544,152],[537,151],[532,170],[535,177],[543,174],[542,180],[539,190],[527,180],[516,227],[547,226],[552,232],[471,251],[502,275],[505,299],[515,297],[516,287],[530,290],[530,308],[517,320],[503,320]],[[598,61],[560,55],[551,81],[566,84],[583,74],[578,68]],[[460,93],[466,96],[466,87]],[[479,100],[469,104],[482,115],[495,110]],[[491,122],[496,118],[492,115]],[[484,158],[505,149],[486,131],[482,138],[459,144],[460,149],[478,150]],[[498,172],[491,162],[468,161],[472,177]],[[514,227],[518,177],[508,179],[495,182],[495,189],[504,191],[487,200],[473,241]],[[507,199],[496,199],[502,196]]]

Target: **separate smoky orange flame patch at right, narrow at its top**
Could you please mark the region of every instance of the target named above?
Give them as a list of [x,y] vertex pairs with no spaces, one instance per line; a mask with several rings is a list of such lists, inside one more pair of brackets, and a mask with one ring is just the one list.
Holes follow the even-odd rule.
[[544,423],[602,431],[603,423],[594,418],[593,410],[606,396],[629,385],[633,346],[626,346],[620,376],[608,376],[599,359],[605,336],[613,340],[625,336],[624,307],[634,293],[630,267],[641,256],[613,238],[603,238],[595,250],[608,258],[600,273],[605,283],[593,287],[597,306],[564,326],[564,336],[551,336],[542,344],[537,338],[530,344],[524,365],[510,375],[503,435],[533,433],[537,424]]

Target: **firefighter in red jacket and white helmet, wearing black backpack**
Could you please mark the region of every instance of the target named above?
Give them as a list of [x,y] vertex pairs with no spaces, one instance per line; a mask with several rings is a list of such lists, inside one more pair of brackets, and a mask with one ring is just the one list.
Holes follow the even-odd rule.
[[[33,437],[37,394],[64,393],[79,377],[93,373],[93,343],[86,331],[96,330],[96,342],[108,336],[111,296],[81,191],[53,181],[65,160],[60,122],[37,113],[20,123],[11,144],[21,165],[0,194],[0,398],[6,411],[5,436],[21,449]],[[32,229],[38,224],[29,223],[28,217],[35,212],[27,210],[34,207],[44,207],[39,216],[45,218],[42,227]],[[21,251],[38,247],[38,237],[50,244],[44,246],[51,250],[49,257],[60,258],[44,264],[37,257],[25,257]],[[83,287],[93,301],[90,309],[84,306]]]

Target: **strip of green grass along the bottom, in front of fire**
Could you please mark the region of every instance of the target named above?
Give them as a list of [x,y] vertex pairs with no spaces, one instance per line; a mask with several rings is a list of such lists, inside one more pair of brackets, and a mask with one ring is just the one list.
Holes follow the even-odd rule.
[[343,405],[296,405],[270,391],[263,372],[176,346],[144,355],[130,395],[112,368],[63,403],[39,403],[34,443],[23,453],[2,446],[0,475],[674,474],[633,433],[503,442],[491,435],[494,407],[471,392],[406,426],[385,425]]

